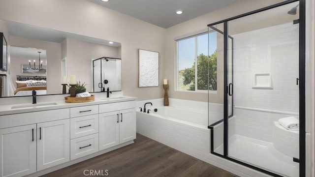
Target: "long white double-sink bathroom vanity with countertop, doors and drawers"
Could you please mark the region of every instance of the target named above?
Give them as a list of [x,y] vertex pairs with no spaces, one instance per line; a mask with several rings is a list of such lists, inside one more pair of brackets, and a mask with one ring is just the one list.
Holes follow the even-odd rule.
[[0,177],[39,176],[133,143],[134,97],[2,105]]

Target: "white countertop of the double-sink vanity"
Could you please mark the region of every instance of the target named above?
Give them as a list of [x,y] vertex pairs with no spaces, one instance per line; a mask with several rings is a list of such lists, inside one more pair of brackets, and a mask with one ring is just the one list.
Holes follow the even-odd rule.
[[[136,100],[136,97],[118,96],[118,97],[110,97],[110,98],[106,98],[106,97],[97,98],[95,96],[95,101],[83,102],[83,103],[65,103],[64,100],[51,100],[49,102],[46,102],[46,101],[37,102],[37,105],[32,104],[32,103],[9,104],[9,105],[0,106],[0,116],[10,115],[10,114],[19,114],[19,113],[29,113],[29,112],[36,112],[36,111],[63,109],[63,108],[73,108],[73,107],[79,107],[79,106],[116,103],[116,102],[123,102],[123,101],[132,101],[132,100]],[[24,106],[24,107],[12,109],[12,107],[19,107],[19,106]]]

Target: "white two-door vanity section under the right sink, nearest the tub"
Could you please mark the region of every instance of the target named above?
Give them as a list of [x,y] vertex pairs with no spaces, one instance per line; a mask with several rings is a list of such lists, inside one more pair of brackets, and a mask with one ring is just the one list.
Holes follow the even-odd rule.
[[99,105],[99,150],[136,139],[135,101]]

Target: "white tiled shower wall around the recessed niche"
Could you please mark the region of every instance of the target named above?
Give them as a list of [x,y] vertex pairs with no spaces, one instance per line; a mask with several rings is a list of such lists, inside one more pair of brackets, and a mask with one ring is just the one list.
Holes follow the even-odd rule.
[[[229,121],[229,129],[235,134],[273,143],[274,121],[299,118],[298,30],[298,25],[288,23],[233,35],[236,118]],[[271,74],[273,89],[252,89],[254,74],[264,73]]]

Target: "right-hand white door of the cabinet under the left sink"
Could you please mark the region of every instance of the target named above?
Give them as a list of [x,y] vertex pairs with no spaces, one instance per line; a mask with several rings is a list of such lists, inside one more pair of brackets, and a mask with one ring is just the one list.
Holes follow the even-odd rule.
[[70,160],[70,120],[37,124],[37,171]]

